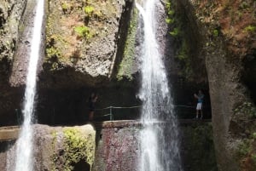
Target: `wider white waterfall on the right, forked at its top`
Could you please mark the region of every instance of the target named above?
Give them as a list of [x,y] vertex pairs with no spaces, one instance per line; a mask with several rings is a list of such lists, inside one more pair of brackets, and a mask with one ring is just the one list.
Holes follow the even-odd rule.
[[[136,3],[143,22],[143,100],[140,171],[182,171],[177,140],[177,119],[173,113],[166,69],[156,40],[155,6],[160,0]],[[172,48],[172,47],[170,47]]]

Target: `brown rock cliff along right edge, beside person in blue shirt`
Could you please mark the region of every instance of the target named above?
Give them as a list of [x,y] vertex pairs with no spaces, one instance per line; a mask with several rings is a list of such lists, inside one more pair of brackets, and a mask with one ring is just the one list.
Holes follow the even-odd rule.
[[192,28],[189,33],[200,39],[197,54],[207,69],[218,170],[255,170],[256,4],[183,0],[179,5]]

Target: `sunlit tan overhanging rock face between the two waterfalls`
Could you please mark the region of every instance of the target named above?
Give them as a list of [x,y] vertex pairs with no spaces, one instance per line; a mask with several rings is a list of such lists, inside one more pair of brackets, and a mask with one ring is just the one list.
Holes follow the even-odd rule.
[[118,44],[125,42],[131,4],[130,0],[48,1],[40,85],[63,88],[108,83]]

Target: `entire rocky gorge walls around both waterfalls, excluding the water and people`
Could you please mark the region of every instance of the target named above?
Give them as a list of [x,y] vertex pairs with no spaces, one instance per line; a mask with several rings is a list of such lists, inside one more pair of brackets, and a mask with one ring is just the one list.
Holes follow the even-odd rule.
[[[138,94],[143,79],[143,26],[135,2],[44,2],[45,57],[38,61],[33,170],[134,170],[140,160],[137,137],[142,128],[137,119],[144,110]],[[26,49],[31,46],[26,31],[32,26],[33,4],[32,0],[0,3],[2,127],[23,120]],[[172,110],[180,125],[183,170],[254,170],[255,1],[166,0],[159,4],[156,39],[170,83],[167,87],[172,88]],[[193,94],[199,88],[206,96],[205,119],[212,118],[212,123],[182,120],[195,117]],[[92,91],[99,94],[96,108],[102,109],[96,111],[96,133],[84,127]],[[108,106],[137,107],[113,108],[115,121],[103,122],[109,119],[100,117],[109,113],[109,108],[104,109]],[[126,119],[130,122],[120,121]],[[69,151],[67,146],[74,141],[81,146]],[[16,143],[11,140],[10,151]],[[0,144],[0,158],[6,161],[8,145]],[[86,154],[73,153],[78,148]],[[196,167],[193,162],[200,164]],[[6,169],[5,163],[1,170]]]

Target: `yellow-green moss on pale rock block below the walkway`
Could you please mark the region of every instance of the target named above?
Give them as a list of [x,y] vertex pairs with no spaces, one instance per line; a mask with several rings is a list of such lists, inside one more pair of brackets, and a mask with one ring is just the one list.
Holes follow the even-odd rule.
[[[95,136],[94,131],[84,134],[83,128],[76,127],[63,128],[61,133],[54,131],[52,133],[53,150],[58,150],[51,156],[53,161],[51,169],[73,170],[79,162],[88,163],[91,169],[94,162]],[[60,137],[62,137],[61,143],[58,140]]]

